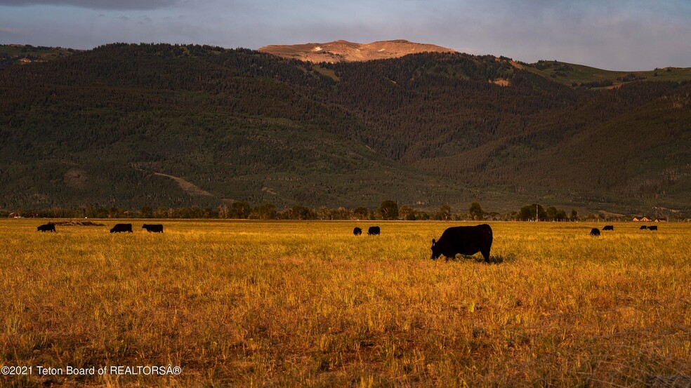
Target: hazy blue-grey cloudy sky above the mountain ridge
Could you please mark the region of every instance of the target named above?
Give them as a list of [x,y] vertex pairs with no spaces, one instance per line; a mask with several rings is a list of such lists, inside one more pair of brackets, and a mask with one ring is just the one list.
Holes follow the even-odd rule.
[[691,67],[691,0],[0,0],[0,44],[407,39],[523,62]]

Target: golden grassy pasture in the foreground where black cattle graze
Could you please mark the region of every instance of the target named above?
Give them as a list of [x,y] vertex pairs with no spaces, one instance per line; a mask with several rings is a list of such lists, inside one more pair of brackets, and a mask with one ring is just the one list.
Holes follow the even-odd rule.
[[459,222],[41,223],[0,220],[1,387],[690,384],[687,224],[493,222],[486,265],[430,260]]

